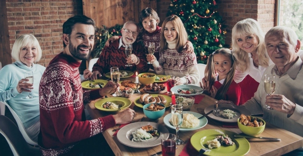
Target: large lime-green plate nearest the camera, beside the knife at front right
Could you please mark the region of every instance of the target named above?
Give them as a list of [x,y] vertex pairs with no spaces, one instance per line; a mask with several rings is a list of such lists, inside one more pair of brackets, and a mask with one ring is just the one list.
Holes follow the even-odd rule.
[[219,148],[212,148],[211,151],[206,151],[204,155],[212,156],[234,156],[234,155],[245,155],[250,150],[249,142],[245,138],[234,138],[237,133],[231,131],[225,131],[223,129],[206,129],[200,132],[196,132],[191,136],[191,145],[200,151],[201,148],[207,148],[206,142],[213,140],[218,135],[228,135],[235,145],[233,146],[220,146]]

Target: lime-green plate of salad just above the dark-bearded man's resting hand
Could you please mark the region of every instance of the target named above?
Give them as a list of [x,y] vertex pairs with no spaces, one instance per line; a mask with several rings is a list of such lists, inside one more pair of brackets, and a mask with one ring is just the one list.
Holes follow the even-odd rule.
[[127,98],[124,98],[124,97],[108,97],[108,98],[104,98],[104,99],[101,99],[101,100],[97,101],[95,103],[95,107],[98,110],[103,110],[103,111],[106,111],[106,112],[116,112],[116,111],[118,111],[118,109],[111,110],[111,109],[103,108],[102,106],[105,102],[113,102],[115,104],[122,104],[121,110],[129,107],[132,104],[131,100],[128,100]]

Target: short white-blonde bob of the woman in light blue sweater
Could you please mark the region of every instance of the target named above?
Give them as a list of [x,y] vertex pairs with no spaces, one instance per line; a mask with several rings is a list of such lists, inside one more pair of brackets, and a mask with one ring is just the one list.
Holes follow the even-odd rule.
[[38,62],[42,57],[42,49],[39,45],[38,40],[36,37],[32,34],[25,34],[21,35],[17,38],[15,41],[13,47],[12,47],[12,58],[16,61],[20,61],[20,50],[24,46],[35,46],[37,48],[37,59],[35,62]]

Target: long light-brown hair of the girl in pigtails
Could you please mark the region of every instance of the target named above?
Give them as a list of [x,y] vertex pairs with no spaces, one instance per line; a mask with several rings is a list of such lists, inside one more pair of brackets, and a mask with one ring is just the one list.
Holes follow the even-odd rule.
[[237,66],[237,59],[235,59],[231,50],[229,50],[227,48],[221,48],[221,49],[217,49],[214,53],[209,55],[209,58],[208,58],[207,64],[206,64],[206,68],[205,68],[205,72],[204,72],[205,80],[209,81],[209,88],[204,88],[204,89],[207,89],[208,91],[210,91],[211,86],[215,82],[216,75],[215,75],[215,66],[214,66],[214,56],[218,55],[218,54],[226,56],[231,60],[231,70],[228,72],[227,77],[225,78],[222,86],[220,88],[218,88],[217,94],[215,95],[215,99],[217,99],[217,100],[226,100],[225,94],[226,94],[231,82],[234,79],[234,74],[235,74],[236,66]]

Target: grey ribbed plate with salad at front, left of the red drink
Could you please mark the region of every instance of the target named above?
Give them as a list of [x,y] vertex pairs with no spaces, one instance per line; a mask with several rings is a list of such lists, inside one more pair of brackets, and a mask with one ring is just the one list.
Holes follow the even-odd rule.
[[[140,129],[142,126],[147,126],[147,125],[151,125],[153,128],[158,129],[159,136],[153,137],[144,142],[133,142],[132,132],[135,132],[137,129]],[[158,123],[136,122],[136,123],[130,123],[122,127],[117,133],[117,138],[119,142],[129,147],[148,148],[148,147],[154,147],[160,145],[161,144],[160,135],[163,133],[169,133],[168,129],[165,126],[162,126]]]

